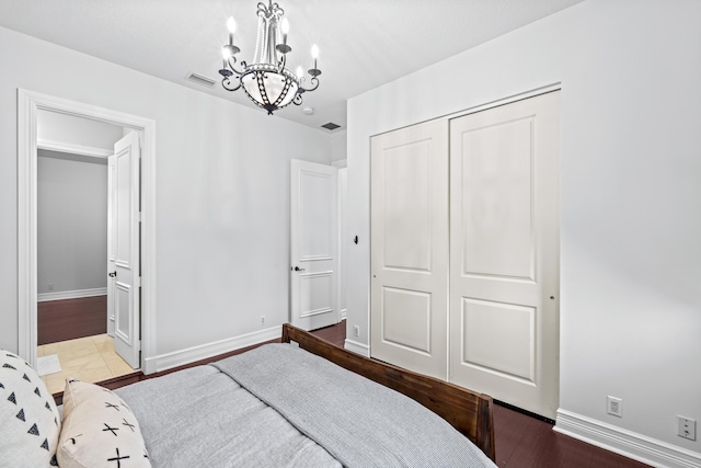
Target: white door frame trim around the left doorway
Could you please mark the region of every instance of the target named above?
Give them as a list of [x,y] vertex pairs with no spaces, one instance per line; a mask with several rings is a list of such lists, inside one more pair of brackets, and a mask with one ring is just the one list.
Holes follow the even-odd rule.
[[131,128],[141,135],[141,369],[154,343],[156,121],[18,89],[18,351],[36,366],[37,116],[57,112]]

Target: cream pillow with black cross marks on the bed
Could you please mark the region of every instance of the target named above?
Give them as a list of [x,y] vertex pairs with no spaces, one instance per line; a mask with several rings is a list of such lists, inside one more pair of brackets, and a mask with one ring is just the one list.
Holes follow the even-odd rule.
[[111,390],[80,380],[66,380],[57,456],[61,468],[151,466],[129,407]]

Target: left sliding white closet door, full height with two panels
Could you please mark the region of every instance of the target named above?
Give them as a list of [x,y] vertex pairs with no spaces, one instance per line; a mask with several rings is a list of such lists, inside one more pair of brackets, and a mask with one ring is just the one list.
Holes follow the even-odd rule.
[[446,379],[448,123],[371,139],[370,355]]

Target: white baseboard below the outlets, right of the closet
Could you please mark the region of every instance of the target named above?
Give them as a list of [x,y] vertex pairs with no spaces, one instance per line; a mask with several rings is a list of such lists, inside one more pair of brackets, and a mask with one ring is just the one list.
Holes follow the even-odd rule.
[[558,410],[555,432],[660,468],[701,468],[701,454],[566,410]]

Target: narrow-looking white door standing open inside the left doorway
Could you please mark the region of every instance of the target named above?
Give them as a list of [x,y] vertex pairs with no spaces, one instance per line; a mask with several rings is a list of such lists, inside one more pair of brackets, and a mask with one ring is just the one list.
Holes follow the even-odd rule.
[[114,145],[108,158],[107,317],[114,350],[131,367],[140,367],[139,134]]

